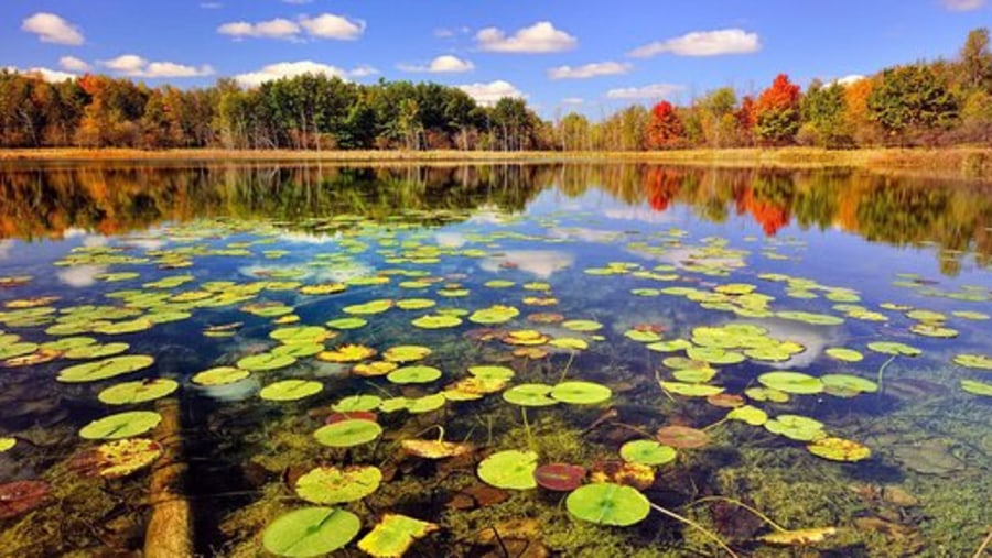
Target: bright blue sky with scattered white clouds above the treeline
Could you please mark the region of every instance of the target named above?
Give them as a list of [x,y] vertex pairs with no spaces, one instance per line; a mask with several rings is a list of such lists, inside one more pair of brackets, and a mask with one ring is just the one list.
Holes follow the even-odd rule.
[[431,80],[546,118],[951,58],[992,0],[2,0],[0,67],[177,87]]

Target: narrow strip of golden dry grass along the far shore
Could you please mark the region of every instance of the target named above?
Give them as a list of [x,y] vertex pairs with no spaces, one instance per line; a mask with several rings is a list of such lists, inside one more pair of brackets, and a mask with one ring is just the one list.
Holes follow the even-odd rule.
[[257,163],[672,163],[720,167],[829,168],[926,174],[992,180],[992,147],[864,149],[818,147],[680,150],[645,152],[559,151],[247,151],[131,149],[0,150],[0,163],[257,162]]

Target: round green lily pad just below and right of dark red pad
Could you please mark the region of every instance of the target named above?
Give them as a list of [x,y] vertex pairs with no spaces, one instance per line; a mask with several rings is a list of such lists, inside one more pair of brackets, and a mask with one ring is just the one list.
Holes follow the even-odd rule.
[[575,517],[600,525],[627,527],[644,521],[651,511],[648,500],[623,484],[597,482],[575,489],[565,500]]

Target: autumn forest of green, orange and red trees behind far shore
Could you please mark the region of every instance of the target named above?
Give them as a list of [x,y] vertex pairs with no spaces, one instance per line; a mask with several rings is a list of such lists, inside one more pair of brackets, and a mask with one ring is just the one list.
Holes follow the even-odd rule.
[[591,121],[541,119],[524,99],[493,106],[434,83],[371,85],[301,75],[242,88],[180,89],[106,75],[57,83],[0,70],[0,147],[226,150],[644,151],[811,145],[828,149],[992,142],[988,29],[953,59],[858,79],[779,74],[762,91],[718,88],[687,105],[633,105]]

